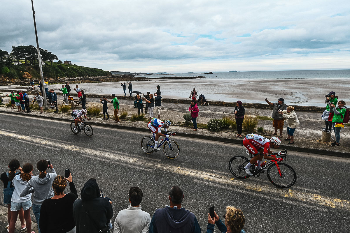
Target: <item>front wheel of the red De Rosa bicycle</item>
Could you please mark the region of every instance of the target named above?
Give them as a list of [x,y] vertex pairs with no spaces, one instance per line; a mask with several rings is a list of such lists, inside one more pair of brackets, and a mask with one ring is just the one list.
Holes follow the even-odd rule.
[[292,167],[286,163],[278,162],[278,167],[280,168],[281,175],[278,172],[276,164],[269,166],[267,169],[268,180],[279,188],[289,188],[295,184],[296,173]]

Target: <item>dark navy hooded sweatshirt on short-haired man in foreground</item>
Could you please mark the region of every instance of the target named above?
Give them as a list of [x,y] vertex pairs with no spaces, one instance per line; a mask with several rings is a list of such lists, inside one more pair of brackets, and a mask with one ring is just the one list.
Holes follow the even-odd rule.
[[149,233],[200,233],[201,227],[196,216],[185,208],[174,209],[166,206],[155,211]]

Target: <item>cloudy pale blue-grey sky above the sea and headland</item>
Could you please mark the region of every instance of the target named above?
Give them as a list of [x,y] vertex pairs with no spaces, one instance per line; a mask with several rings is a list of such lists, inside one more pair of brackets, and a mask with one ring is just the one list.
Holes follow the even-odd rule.
[[[34,45],[30,0],[1,0],[0,49]],[[40,48],[129,72],[350,68],[350,1],[34,0]]]

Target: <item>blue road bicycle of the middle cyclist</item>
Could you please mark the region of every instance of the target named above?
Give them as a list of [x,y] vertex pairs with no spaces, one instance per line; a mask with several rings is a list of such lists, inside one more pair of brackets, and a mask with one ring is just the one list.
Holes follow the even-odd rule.
[[[158,147],[160,148],[163,145],[163,152],[169,159],[175,159],[180,154],[180,147],[179,144],[177,144],[176,141],[169,139],[170,136],[176,136],[176,132],[167,132],[169,137],[162,139],[160,141],[160,144],[158,144]],[[142,151],[144,151],[146,154],[151,154],[154,151],[157,151],[154,149],[155,144],[155,133],[153,133],[153,136],[145,136],[141,140],[141,148]]]

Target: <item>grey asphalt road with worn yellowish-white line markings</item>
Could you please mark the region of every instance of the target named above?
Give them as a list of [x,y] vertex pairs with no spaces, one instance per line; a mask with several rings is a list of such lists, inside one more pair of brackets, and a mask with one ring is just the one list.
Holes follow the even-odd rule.
[[140,140],[147,133],[93,129],[89,138],[83,132],[73,134],[67,122],[0,113],[2,172],[13,158],[34,167],[38,160],[50,159],[58,174],[70,168],[78,193],[94,177],[113,199],[112,223],[127,207],[131,186],[142,189],[142,210],[153,216],[169,204],[170,187],[179,185],[185,194],[183,207],[196,215],[202,232],[212,205],[219,216],[227,205],[241,208],[246,232],[350,232],[350,159],[290,152],[286,163],[296,171],[297,181],[282,190],[269,183],[265,173],[233,179],[228,162],[232,156],[245,155],[239,145],[174,137],[181,151],[170,160],[162,151],[141,151]]

